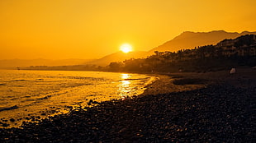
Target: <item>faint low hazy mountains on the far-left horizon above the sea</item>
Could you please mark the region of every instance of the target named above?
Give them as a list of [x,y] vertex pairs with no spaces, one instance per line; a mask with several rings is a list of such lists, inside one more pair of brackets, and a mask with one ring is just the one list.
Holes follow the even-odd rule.
[[16,67],[29,67],[29,66],[69,66],[69,65],[81,65],[85,62],[92,60],[87,59],[61,59],[61,60],[50,60],[50,59],[8,59],[0,60],[0,68],[13,69]]

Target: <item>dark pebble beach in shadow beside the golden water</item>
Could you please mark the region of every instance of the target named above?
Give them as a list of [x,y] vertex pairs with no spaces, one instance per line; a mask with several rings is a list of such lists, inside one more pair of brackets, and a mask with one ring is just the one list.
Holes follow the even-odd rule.
[[256,71],[164,73],[142,95],[0,129],[0,142],[254,142]]

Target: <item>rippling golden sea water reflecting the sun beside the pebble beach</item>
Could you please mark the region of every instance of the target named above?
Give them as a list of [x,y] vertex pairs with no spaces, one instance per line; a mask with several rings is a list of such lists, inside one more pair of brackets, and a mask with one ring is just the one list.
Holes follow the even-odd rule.
[[18,127],[24,121],[68,113],[71,107],[90,106],[90,100],[140,95],[154,79],[100,71],[0,70],[0,127],[2,123]]

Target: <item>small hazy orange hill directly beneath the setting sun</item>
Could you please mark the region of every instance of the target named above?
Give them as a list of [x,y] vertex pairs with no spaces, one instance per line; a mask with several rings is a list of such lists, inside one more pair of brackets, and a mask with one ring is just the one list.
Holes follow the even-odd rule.
[[117,52],[117,53],[111,53],[103,58],[94,60],[92,62],[87,62],[88,64],[95,64],[99,66],[107,66],[111,62],[123,62],[126,59],[130,58],[146,58],[149,55],[148,52],[144,51],[134,51],[130,53],[123,53],[123,52]]

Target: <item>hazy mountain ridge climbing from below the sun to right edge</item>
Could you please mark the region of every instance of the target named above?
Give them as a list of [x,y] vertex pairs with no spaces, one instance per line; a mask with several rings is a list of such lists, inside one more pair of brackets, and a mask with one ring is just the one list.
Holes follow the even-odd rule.
[[121,62],[129,58],[146,58],[149,55],[154,54],[154,51],[178,51],[180,49],[195,48],[197,46],[204,46],[209,44],[217,44],[223,39],[235,39],[241,35],[256,35],[256,32],[244,31],[238,32],[226,32],[225,30],[213,30],[210,32],[191,32],[186,31],[181,35],[159,45],[156,48],[152,48],[147,52],[134,51],[132,53],[112,53],[103,58],[88,62],[89,64],[96,64],[101,66],[107,66],[110,62]]

